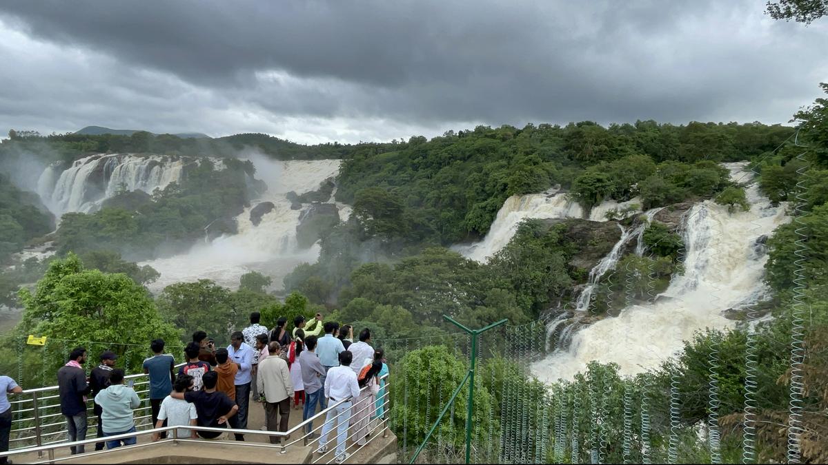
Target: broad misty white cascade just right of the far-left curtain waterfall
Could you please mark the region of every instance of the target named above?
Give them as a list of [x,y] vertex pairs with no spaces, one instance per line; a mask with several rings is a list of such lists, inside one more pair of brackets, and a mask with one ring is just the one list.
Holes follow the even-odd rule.
[[[196,244],[189,252],[176,256],[144,261],[161,273],[161,278],[150,285],[157,292],[166,285],[199,279],[214,280],[225,287],[238,287],[239,278],[248,271],[259,271],[273,279],[273,285],[282,287],[282,279],[299,263],[314,262],[320,247],[296,247],[296,226],[301,210],[291,209],[285,194],[295,191],[304,194],[319,188],[320,183],[339,172],[339,160],[272,161],[259,158],[253,161],[256,177],[267,184],[261,199],[251,202],[236,218],[238,234],[223,236],[212,242]],[[250,210],[261,202],[272,202],[274,208],[262,216],[258,226],[250,220]],[[339,206],[339,205],[338,205]],[[346,205],[339,206],[340,218]]]

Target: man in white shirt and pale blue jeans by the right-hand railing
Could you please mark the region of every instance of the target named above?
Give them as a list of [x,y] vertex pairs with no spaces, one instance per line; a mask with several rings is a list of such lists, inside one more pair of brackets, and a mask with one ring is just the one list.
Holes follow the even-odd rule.
[[350,368],[353,357],[354,354],[348,351],[340,353],[339,367],[328,370],[328,376],[325,378],[325,397],[334,407],[328,410],[328,415],[325,417],[325,425],[322,426],[322,435],[316,452],[323,455],[328,452],[328,434],[331,429],[334,429],[334,419],[336,419],[336,463],[343,463],[349,457],[349,454],[345,452],[345,442],[348,438],[351,406],[354,405],[352,399],[359,397],[357,376]]

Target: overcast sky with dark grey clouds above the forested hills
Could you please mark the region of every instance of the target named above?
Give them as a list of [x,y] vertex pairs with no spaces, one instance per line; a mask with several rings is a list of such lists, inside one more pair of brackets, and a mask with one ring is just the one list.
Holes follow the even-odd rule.
[[0,132],[787,122],[828,81],[828,20],[764,2],[0,2]]

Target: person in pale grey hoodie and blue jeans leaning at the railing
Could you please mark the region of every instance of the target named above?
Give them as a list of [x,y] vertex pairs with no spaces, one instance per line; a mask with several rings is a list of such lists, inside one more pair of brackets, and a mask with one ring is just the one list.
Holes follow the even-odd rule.
[[[141,400],[132,387],[123,386],[123,370],[115,368],[109,375],[108,388],[95,395],[95,404],[101,406],[103,419],[103,436],[114,436],[135,432],[135,421],[132,419],[132,410],[141,405]],[[137,443],[133,436],[127,439],[113,439],[106,442],[106,448],[117,448],[122,444],[131,446]]]

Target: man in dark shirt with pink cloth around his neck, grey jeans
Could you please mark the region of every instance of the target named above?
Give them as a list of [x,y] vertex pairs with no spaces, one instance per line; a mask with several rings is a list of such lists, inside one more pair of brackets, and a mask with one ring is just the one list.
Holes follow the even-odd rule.
[[[69,362],[57,371],[60,413],[66,418],[69,442],[86,439],[86,395],[90,388],[86,384],[86,349],[75,348],[69,354]],[[70,446],[72,455],[84,453],[84,446]]]

